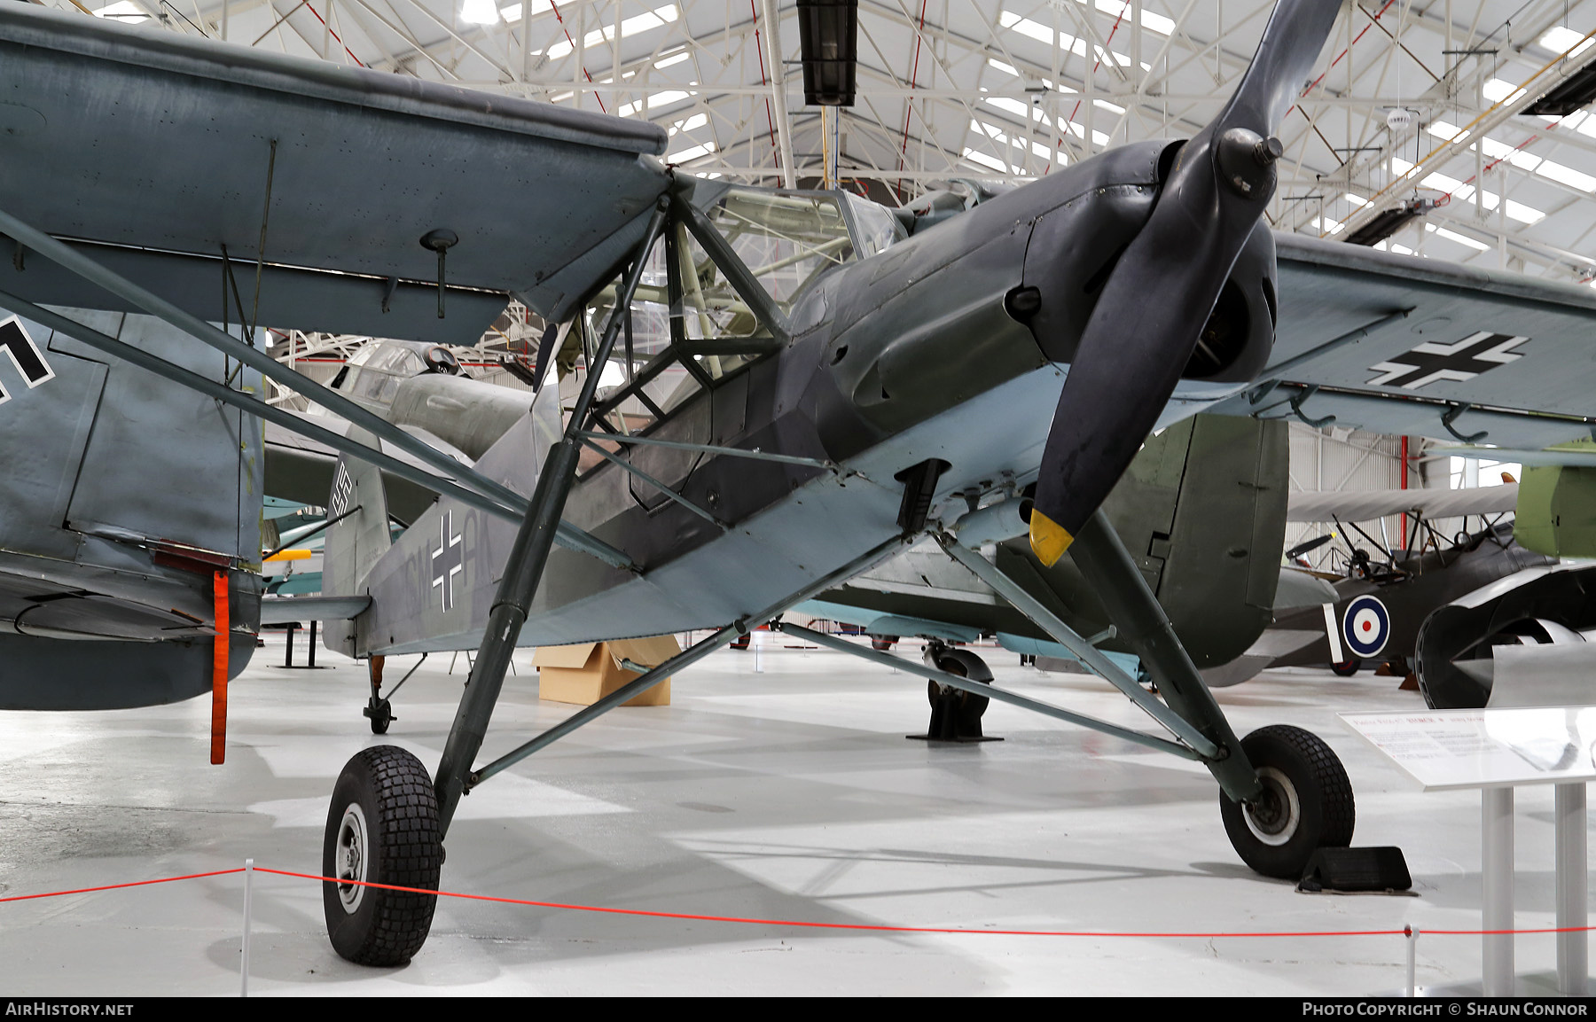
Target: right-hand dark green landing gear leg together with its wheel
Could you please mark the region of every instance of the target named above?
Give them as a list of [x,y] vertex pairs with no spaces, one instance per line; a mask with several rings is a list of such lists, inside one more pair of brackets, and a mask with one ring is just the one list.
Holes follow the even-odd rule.
[[1350,845],[1352,781],[1336,753],[1312,732],[1282,724],[1237,741],[1103,512],[1069,553],[1168,706],[1218,746],[1207,765],[1219,781],[1219,815],[1242,861],[1266,877],[1296,880],[1315,848]]

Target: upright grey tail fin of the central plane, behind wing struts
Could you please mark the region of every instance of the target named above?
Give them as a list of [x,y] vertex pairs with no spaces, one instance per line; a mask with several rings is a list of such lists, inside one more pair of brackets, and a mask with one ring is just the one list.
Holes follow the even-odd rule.
[[[348,435],[351,440],[381,450],[381,442],[364,429],[351,427]],[[340,456],[338,467],[332,474],[327,517],[343,517],[343,520],[327,529],[321,553],[321,592],[324,596],[362,593],[372,566],[393,545],[381,472],[358,458]],[[327,649],[356,655],[353,620],[324,622],[322,635]]]

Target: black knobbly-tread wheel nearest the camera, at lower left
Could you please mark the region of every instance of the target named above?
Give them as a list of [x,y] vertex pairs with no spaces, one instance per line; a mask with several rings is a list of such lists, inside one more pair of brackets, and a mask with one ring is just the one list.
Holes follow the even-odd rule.
[[410,961],[437,894],[359,882],[436,891],[442,864],[437,796],[421,761],[391,745],[356,753],[332,789],[321,853],[321,875],[340,880],[321,890],[332,949],[356,965]]

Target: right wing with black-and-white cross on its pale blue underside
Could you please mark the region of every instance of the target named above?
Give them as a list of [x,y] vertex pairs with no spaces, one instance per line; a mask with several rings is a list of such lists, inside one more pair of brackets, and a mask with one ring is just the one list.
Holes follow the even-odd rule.
[[1299,234],[1275,244],[1270,365],[1215,411],[1526,448],[1591,435],[1591,289]]

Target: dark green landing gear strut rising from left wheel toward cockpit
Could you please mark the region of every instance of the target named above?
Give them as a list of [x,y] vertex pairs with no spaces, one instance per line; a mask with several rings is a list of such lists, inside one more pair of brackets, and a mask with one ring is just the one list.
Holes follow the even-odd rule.
[[466,692],[460,697],[460,708],[455,722],[448,729],[448,743],[444,746],[444,757],[437,764],[434,788],[437,789],[437,815],[440,834],[448,834],[448,823],[455,816],[460,796],[466,791],[471,764],[476,761],[482,738],[487,735],[488,719],[498,703],[500,689],[504,687],[504,671],[509,670],[511,654],[516,651],[516,639],[527,623],[533,596],[543,582],[543,569],[549,563],[549,548],[554,545],[554,533],[565,512],[565,497],[570,496],[576,482],[576,462],[581,454],[581,432],[584,419],[592,408],[594,394],[598,391],[600,370],[610,360],[610,351],[626,320],[626,312],[632,306],[632,295],[648,266],[648,254],[658,241],[661,228],[666,225],[666,212],[670,201],[661,198],[654,207],[654,215],[643,231],[643,241],[637,249],[630,271],[626,274],[621,292],[616,295],[614,312],[605,327],[594,360],[587,365],[587,378],[583,391],[576,397],[571,419],[565,427],[565,435],[549,450],[543,470],[538,474],[538,485],[531,494],[527,517],[522,520],[511,547],[509,561],[504,564],[504,577],[500,582],[493,607],[488,611],[488,623],[482,633],[482,646],[477,658],[466,678]]

